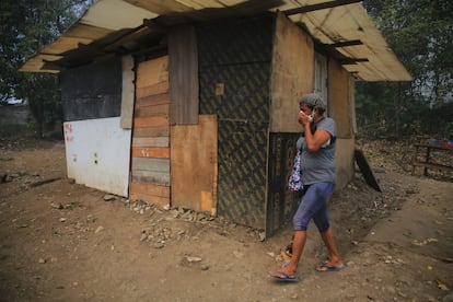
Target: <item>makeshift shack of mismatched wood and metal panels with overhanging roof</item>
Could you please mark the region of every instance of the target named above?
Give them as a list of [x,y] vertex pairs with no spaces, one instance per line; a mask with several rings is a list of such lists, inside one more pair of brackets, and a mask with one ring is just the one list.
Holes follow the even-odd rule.
[[359,1],[100,0],[22,68],[61,82],[68,177],[271,235],[299,100],[337,121],[337,188],[355,174],[355,82],[410,81]]

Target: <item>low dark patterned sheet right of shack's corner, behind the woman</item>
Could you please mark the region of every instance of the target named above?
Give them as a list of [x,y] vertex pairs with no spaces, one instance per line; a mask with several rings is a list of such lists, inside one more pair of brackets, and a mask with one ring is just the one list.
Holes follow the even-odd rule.
[[269,185],[266,211],[266,235],[292,221],[301,195],[288,189],[288,178],[295,155],[295,142],[300,133],[270,133]]

